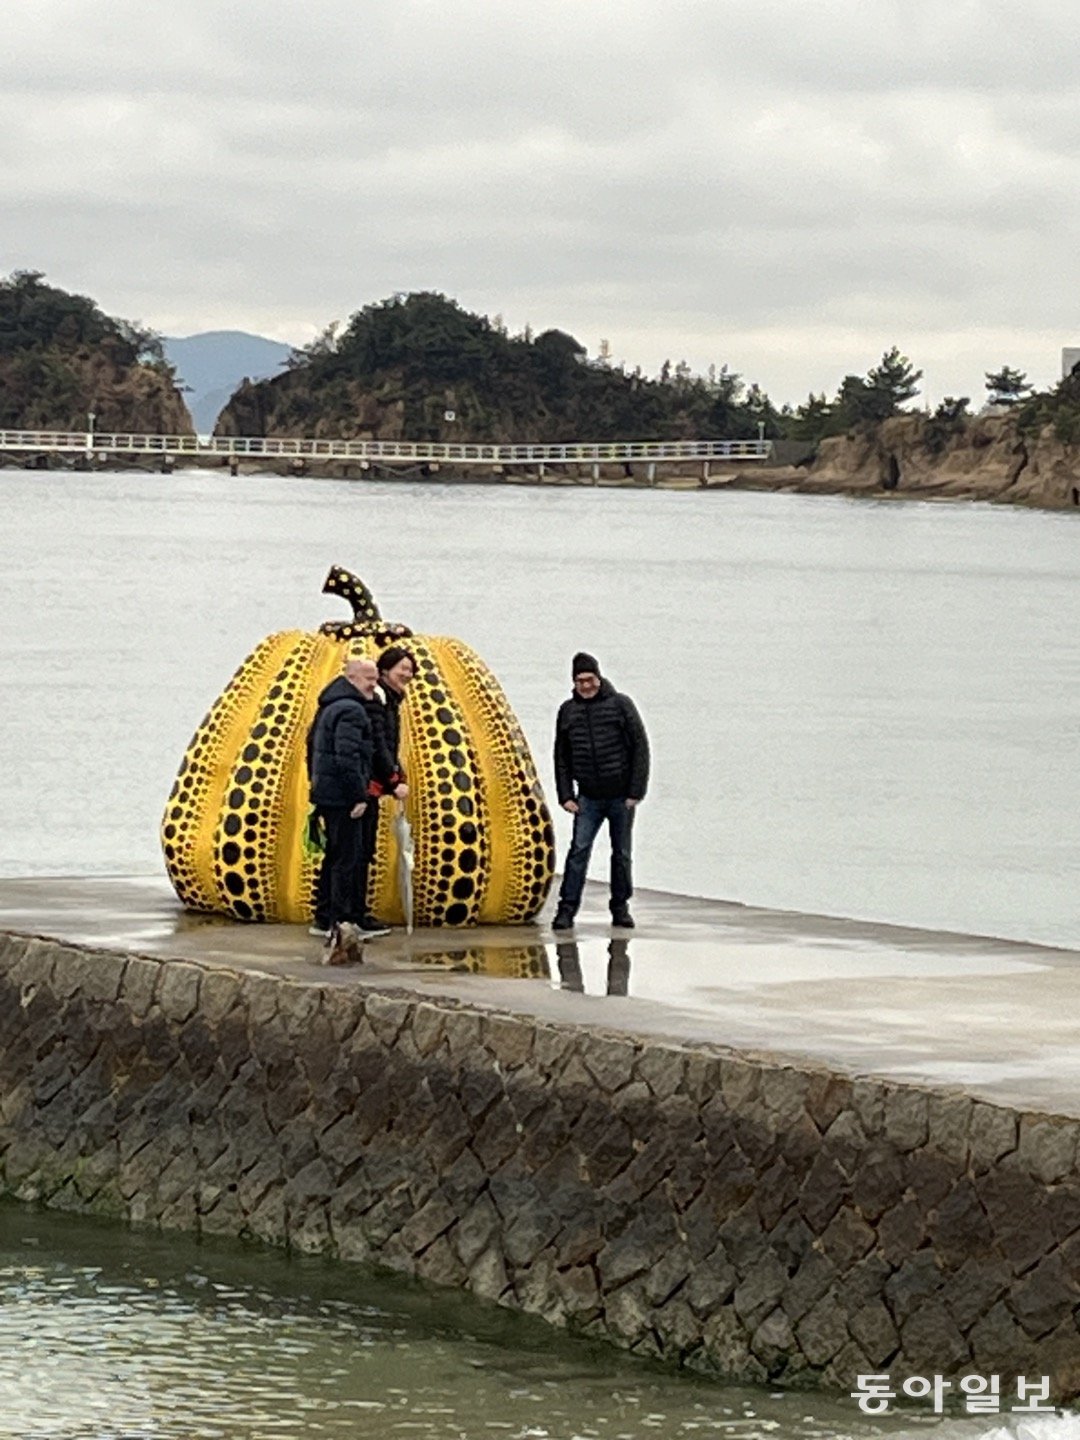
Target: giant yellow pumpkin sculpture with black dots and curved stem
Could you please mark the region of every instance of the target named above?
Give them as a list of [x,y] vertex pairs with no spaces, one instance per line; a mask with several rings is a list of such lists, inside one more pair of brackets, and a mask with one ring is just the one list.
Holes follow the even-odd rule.
[[[351,621],[282,631],[251,652],[187,747],[161,821],[168,878],[192,910],[238,920],[311,917],[318,858],[308,819],[305,739],[318,693],[347,658],[405,644],[416,678],[402,706],[416,924],[514,924],[547,897],[552,818],[503,690],[458,639],[387,625],[370,592],[334,567],[324,592]],[[389,802],[384,802],[389,804]],[[379,827],[369,900],[400,924],[393,827]]]

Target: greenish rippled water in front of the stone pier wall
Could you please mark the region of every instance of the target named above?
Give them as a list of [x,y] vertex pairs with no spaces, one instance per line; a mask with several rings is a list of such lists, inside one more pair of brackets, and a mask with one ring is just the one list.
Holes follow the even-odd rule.
[[[1004,1400],[1015,1403],[1015,1395]],[[0,1205],[4,1440],[1077,1440],[674,1375],[363,1270]]]

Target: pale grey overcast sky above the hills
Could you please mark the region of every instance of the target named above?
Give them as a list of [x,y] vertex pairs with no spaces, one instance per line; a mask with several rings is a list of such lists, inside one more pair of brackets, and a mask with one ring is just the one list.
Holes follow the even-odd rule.
[[1063,0],[6,0],[0,271],[302,341],[395,291],[775,400],[1080,344]]

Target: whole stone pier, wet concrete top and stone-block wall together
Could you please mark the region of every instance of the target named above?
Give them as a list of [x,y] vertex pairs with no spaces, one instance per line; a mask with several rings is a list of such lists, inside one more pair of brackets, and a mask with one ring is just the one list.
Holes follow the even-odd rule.
[[701,950],[707,1021],[642,1024],[596,897],[573,945],[503,932],[547,956],[510,978],[465,963],[475,932],[325,971],[302,927],[183,917],[163,884],[0,881],[0,1194],[374,1263],[729,1380],[1077,1395],[1077,956],[657,894],[641,920],[631,973],[670,988]]

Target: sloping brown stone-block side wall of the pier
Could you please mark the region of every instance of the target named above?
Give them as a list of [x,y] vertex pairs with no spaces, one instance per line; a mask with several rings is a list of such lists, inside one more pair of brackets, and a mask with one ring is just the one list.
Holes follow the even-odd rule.
[[1080,1391],[1076,1120],[343,979],[0,936],[0,1192],[727,1377]]

